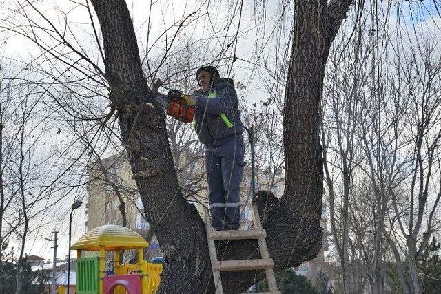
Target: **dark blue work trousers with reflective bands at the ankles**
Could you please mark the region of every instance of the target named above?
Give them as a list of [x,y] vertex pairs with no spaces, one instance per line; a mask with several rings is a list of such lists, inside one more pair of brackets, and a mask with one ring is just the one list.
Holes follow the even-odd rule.
[[218,147],[205,147],[209,209],[215,230],[239,228],[243,154],[242,135],[232,136]]

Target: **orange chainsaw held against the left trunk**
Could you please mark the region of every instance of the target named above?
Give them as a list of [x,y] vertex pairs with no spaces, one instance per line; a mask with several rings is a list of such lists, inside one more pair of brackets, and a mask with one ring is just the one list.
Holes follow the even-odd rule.
[[170,90],[167,95],[158,92],[162,81],[158,78],[154,83],[153,94],[154,100],[161,105],[167,114],[172,118],[182,121],[183,123],[192,123],[194,118],[194,107],[187,104],[187,94],[183,94],[178,90]]

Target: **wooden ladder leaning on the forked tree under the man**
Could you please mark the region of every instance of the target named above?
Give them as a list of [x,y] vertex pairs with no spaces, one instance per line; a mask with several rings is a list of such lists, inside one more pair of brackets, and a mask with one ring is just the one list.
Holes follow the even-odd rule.
[[[277,290],[276,278],[274,277],[273,267],[274,262],[269,257],[267,242],[265,238],[267,233],[262,228],[258,209],[255,205],[252,206],[254,227],[249,230],[228,230],[228,231],[214,231],[209,219],[209,213],[205,210],[205,227],[207,229],[207,240],[209,256],[212,260],[214,286],[216,294],[223,294],[222,281],[220,280],[221,271],[247,271],[253,269],[265,269],[267,276],[269,293],[280,293]],[[216,254],[216,246],[214,240],[243,240],[243,239],[257,239],[262,259],[257,260],[218,260]]]

